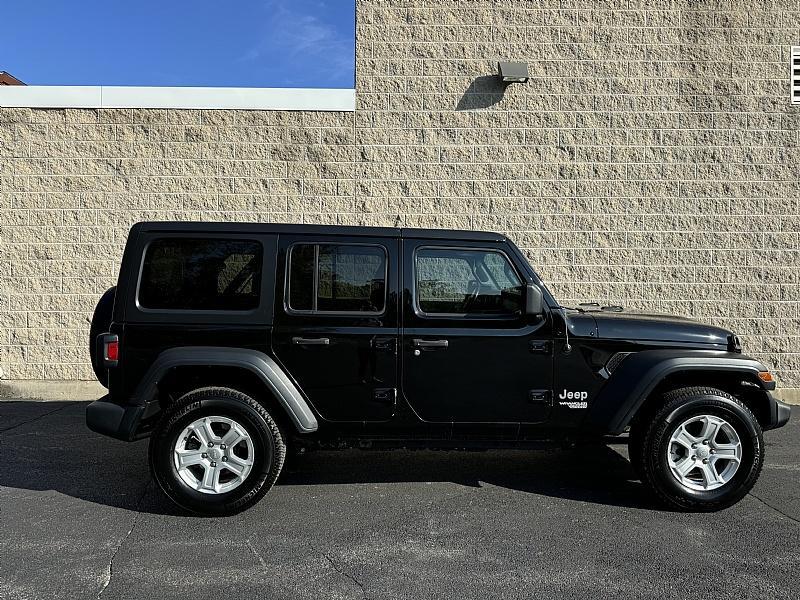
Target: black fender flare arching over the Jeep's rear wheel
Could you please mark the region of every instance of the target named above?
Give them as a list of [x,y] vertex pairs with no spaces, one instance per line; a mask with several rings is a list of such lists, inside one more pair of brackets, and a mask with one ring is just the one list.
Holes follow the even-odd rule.
[[239,367],[256,375],[275,395],[299,433],[312,433],[319,424],[297,386],[272,358],[243,348],[217,346],[177,347],[158,355],[130,399],[130,404],[145,406],[158,393],[158,383],[176,367]]

